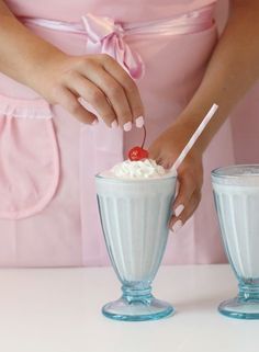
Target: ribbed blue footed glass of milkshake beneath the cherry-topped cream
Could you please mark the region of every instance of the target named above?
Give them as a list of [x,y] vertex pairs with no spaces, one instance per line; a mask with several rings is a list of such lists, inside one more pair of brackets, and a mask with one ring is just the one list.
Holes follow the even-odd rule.
[[172,315],[170,304],[153,296],[151,282],[167,245],[176,178],[95,181],[108,252],[122,283],[122,297],[108,303],[103,315],[128,321]]

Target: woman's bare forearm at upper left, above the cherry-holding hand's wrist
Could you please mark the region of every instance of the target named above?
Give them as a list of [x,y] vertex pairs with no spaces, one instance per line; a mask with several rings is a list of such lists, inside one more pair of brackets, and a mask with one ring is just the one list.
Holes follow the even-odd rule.
[[[55,56],[53,54],[56,54]],[[29,87],[60,50],[34,35],[0,1],[0,71]]]

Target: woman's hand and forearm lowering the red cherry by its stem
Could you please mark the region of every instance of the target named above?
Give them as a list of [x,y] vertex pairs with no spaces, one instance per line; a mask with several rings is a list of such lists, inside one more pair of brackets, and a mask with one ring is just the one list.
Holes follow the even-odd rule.
[[144,124],[138,89],[109,55],[70,56],[27,30],[0,0],[0,71],[29,86],[79,121],[98,122],[82,98],[110,127]]

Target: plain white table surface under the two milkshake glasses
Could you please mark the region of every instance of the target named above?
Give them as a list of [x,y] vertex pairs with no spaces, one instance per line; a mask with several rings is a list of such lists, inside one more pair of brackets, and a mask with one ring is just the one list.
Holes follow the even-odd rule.
[[0,270],[0,351],[258,352],[259,321],[216,310],[236,289],[228,265],[161,266],[154,293],[176,315],[120,322],[100,313],[120,295],[111,268]]

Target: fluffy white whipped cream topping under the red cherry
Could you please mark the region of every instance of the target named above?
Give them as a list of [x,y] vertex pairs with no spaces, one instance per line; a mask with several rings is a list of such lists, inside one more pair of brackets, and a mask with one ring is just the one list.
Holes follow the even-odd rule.
[[115,164],[111,170],[102,172],[101,175],[119,179],[157,179],[172,175],[173,172],[157,164],[153,159],[138,161],[125,160]]

